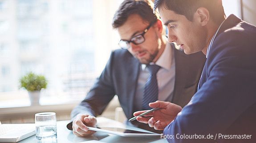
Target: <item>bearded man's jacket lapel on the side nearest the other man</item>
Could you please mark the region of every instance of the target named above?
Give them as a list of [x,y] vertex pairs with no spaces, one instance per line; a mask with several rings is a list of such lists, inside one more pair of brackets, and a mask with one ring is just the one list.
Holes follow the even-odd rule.
[[188,65],[188,60],[186,58],[186,55],[183,53],[183,51],[179,51],[175,49],[174,46],[174,56],[175,56],[175,85],[174,85],[174,94],[172,97],[171,102],[172,103],[179,103],[179,100],[183,98],[183,96],[186,95],[178,95],[178,93],[181,93],[182,89],[184,88],[184,84],[186,82],[187,78],[187,67]]

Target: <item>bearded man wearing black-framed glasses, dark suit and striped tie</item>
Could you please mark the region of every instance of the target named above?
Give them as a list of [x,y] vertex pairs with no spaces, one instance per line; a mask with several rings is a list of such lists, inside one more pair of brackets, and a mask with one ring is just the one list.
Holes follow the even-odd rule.
[[[202,53],[186,55],[174,43],[167,43],[150,0],[124,0],[112,26],[118,30],[122,49],[111,53],[93,88],[73,109],[68,128],[78,136],[93,133],[87,126],[96,124],[95,116],[102,114],[115,95],[127,119],[134,111],[150,109],[148,104],[156,100],[183,107],[195,93],[203,69]],[[137,121],[127,123],[157,132]]]

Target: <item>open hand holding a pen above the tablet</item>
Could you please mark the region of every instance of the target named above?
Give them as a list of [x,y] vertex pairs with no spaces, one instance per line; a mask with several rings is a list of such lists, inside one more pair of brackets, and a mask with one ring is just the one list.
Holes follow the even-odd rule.
[[155,130],[163,130],[182,110],[179,105],[164,101],[155,101],[150,103],[149,106],[161,109],[151,112],[144,117],[138,115],[146,111],[137,111],[134,112],[134,116],[138,116],[136,120],[148,124],[150,127],[154,127]]

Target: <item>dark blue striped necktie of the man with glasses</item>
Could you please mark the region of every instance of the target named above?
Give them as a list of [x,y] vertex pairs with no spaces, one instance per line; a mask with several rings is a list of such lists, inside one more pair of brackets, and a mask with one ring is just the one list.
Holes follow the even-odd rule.
[[158,100],[158,85],[156,79],[156,73],[160,69],[157,65],[147,65],[146,66],[150,72],[150,76],[146,80],[143,93],[142,109],[151,109],[148,104]]

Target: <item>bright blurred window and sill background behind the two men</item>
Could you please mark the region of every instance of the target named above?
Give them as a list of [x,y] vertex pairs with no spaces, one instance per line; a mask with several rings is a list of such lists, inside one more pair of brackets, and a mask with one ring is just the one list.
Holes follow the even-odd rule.
[[[53,111],[69,120],[89,91],[119,36],[112,29],[123,0],[0,0],[0,120],[33,122],[36,112]],[[226,15],[256,24],[255,0],[223,0]],[[30,106],[20,78],[44,75],[40,104]],[[103,116],[114,118],[117,97]]]

